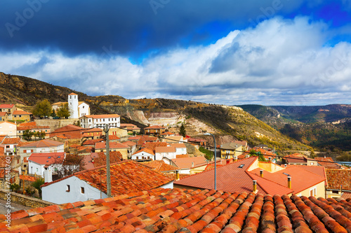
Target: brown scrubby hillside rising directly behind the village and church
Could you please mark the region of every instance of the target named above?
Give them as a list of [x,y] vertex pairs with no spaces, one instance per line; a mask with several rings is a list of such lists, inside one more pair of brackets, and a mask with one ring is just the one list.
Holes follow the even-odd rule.
[[174,99],[124,99],[119,96],[90,97],[84,93],[22,76],[0,73],[0,102],[34,106],[38,100],[66,101],[70,92],[91,106],[92,114],[117,113],[121,122],[138,126],[166,125],[176,131],[185,122],[188,134],[211,132],[218,137],[231,135],[251,145],[265,143],[277,149],[309,147],[284,136],[241,108]]

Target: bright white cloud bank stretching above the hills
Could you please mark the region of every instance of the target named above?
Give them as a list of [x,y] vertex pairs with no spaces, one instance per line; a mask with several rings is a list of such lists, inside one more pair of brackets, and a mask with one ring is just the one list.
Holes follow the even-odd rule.
[[307,17],[274,17],[211,45],[170,49],[142,64],[119,55],[67,57],[42,50],[2,54],[0,70],[94,95],[218,104],[331,104],[338,99],[351,104],[345,98],[351,91],[351,45],[326,46],[328,30]]

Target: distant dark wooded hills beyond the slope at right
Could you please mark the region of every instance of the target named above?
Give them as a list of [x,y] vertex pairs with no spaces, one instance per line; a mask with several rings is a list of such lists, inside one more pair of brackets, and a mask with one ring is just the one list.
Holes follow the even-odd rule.
[[301,143],[330,151],[351,150],[351,105],[240,107]]

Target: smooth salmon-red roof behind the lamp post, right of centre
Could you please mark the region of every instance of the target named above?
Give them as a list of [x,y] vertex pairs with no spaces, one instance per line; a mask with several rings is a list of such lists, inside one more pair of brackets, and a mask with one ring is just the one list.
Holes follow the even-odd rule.
[[[225,192],[251,192],[253,181],[257,181],[257,190],[263,194],[290,194],[293,190],[287,187],[260,178],[246,171],[258,157],[249,157],[244,160],[217,167],[217,189]],[[242,164],[242,167],[240,166]],[[213,188],[214,169],[194,174],[176,181],[176,185],[185,185],[194,188]]]

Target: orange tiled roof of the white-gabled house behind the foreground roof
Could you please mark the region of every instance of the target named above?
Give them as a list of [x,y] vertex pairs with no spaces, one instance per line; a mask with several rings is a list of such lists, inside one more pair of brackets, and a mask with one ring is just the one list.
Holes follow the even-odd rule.
[[[156,171],[152,171],[143,164],[126,160],[111,164],[111,185],[112,196],[124,195],[128,192],[140,192],[142,190],[152,190],[161,187],[172,181],[171,178],[164,176]],[[88,182],[94,188],[107,192],[106,187],[106,166],[96,167],[95,169],[79,171],[71,176],[76,176],[82,181]],[[66,176],[65,178],[71,177]],[[56,183],[63,179],[53,181]],[[46,183],[43,186],[48,186]]]

